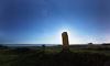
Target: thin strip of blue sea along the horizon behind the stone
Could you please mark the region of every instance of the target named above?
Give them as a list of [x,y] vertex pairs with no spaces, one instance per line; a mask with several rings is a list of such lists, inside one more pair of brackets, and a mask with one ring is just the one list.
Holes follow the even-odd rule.
[[[57,46],[57,45],[62,45],[62,44],[0,44],[3,46]],[[72,44],[72,45],[86,45],[86,44]]]

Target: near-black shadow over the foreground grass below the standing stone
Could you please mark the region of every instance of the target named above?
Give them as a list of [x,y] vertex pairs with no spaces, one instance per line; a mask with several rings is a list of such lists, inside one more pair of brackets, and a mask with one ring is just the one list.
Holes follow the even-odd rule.
[[23,56],[21,55],[22,58],[20,57],[11,66],[109,66],[110,61],[110,57],[105,55],[74,53],[70,51],[59,52],[57,54],[36,51],[32,53],[26,52],[25,54]]

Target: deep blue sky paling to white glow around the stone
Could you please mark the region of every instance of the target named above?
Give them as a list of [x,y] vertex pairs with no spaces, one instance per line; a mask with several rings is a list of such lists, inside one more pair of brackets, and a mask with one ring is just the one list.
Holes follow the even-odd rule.
[[109,0],[0,0],[0,44],[110,42]]

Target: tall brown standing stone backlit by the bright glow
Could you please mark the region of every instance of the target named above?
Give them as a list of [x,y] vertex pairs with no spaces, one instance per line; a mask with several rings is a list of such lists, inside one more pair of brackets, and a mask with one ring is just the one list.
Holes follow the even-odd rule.
[[62,37],[63,37],[63,51],[69,51],[69,41],[68,41],[68,34],[67,32],[63,32],[62,33]]

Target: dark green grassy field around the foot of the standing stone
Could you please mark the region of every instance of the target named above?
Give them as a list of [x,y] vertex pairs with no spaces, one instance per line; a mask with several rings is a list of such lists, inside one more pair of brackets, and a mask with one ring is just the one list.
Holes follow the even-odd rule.
[[0,66],[110,66],[110,48],[69,46],[0,47]]

